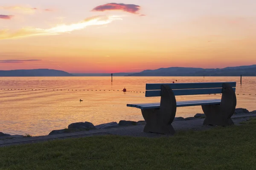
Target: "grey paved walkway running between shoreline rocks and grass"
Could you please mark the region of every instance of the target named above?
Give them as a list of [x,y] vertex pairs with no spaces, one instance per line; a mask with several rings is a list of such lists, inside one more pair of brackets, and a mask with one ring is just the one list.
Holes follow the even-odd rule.
[[[239,125],[240,122],[246,121],[250,117],[256,117],[256,114],[233,115],[232,120],[235,123],[235,125]],[[175,121],[175,122],[172,122],[172,126],[176,131],[207,130],[215,127],[215,126],[204,126],[203,122],[204,122],[204,119]],[[157,133],[144,133],[143,128],[144,128],[144,125],[134,125],[134,126],[128,126],[128,127],[115,127],[110,129],[81,131],[81,132],[64,133],[64,134],[58,134],[58,135],[4,139],[4,140],[0,140],[0,147],[10,146],[15,144],[44,142],[44,141],[54,140],[54,139],[79,138],[79,137],[99,136],[99,135],[120,135],[120,136],[138,136],[138,137],[166,136],[166,135],[157,134]]]

